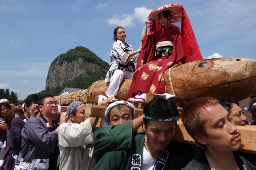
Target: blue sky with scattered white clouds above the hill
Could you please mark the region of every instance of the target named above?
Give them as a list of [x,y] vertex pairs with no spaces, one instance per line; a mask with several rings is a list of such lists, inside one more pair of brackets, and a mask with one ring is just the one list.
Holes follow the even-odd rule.
[[109,63],[117,26],[137,50],[148,14],[170,3],[183,5],[204,58],[256,59],[255,0],[0,0],[0,88],[19,100],[41,92],[50,63],[76,46]]

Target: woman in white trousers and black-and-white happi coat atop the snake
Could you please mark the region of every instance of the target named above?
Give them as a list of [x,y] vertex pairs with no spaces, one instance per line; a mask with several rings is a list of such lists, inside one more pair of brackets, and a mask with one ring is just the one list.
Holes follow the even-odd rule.
[[141,46],[134,51],[131,45],[125,42],[126,34],[123,27],[114,29],[114,38],[110,54],[110,69],[105,78],[105,83],[109,82],[109,89],[106,96],[115,97],[117,95],[119,85],[124,78],[132,78],[135,70],[134,62],[137,62]]

